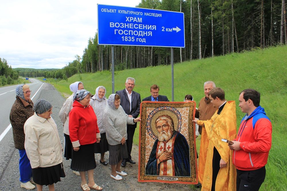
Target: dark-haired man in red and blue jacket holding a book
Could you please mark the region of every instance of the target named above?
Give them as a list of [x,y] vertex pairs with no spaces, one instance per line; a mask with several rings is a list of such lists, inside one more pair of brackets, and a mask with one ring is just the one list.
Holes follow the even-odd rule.
[[259,106],[260,93],[245,89],[239,96],[239,107],[247,113],[240,124],[233,145],[232,161],[236,167],[236,190],[259,190],[265,179],[272,140],[272,124]]

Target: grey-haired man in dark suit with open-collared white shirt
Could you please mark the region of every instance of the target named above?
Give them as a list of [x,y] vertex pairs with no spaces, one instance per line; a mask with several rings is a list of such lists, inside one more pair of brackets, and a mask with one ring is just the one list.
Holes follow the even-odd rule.
[[[139,115],[139,109],[141,104],[141,95],[139,93],[133,91],[135,86],[135,79],[128,77],[125,83],[125,89],[119,90],[116,93],[120,95],[121,98],[121,106],[125,110],[126,114],[129,117],[137,118]],[[131,159],[131,148],[133,146],[133,135],[135,134],[135,128],[137,127],[137,123],[130,125],[127,124],[127,153],[129,157],[127,159],[123,159],[121,166],[125,167],[126,162],[131,164],[135,164],[135,161]]]

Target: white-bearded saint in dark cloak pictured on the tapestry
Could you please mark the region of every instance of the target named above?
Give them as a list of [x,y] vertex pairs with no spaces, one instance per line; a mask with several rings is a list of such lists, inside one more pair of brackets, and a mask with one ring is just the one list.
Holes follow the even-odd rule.
[[158,139],[154,142],[146,175],[190,176],[189,146],[185,137],[174,130],[174,122],[168,115],[155,121]]

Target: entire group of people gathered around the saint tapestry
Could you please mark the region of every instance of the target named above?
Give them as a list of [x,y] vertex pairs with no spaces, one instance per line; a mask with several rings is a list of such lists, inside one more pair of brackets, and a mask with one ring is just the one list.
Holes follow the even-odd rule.
[[[95,95],[84,89],[82,82],[70,85],[72,95],[67,98],[59,117],[65,137],[64,157],[71,159],[73,173],[81,177],[82,190],[102,190],[94,181],[95,153],[100,163],[109,151],[110,177],[121,180],[121,171],[131,158],[133,136],[140,110],[140,94],[133,91],[135,79],[128,77],[125,89],[106,98],[104,86]],[[159,86],[150,87],[151,96],[143,101],[168,102],[159,95]],[[196,137],[201,134],[199,151],[199,182],[202,190],[259,190],[265,178],[265,164],[271,148],[272,124],[259,105],[260,93],[245,89],[239,95],[239,107],[247,113],[236,134],[235,101],[226,101],[225,93],[214,82],[204,83],[205,96],[199,101],[193,122],[198,124]],[[27,84],[18,85],[16,100],[10,112],[15,148],[19,150],[21,187],[38,190],[65,177],[61,141],[52,114],[52,105],[44,99],[35,104],[30,99]],[[186,95],[184,101],[193,101]],[[161,118],[160,128],[167,119]],[[229,140],[228,143],[222,140]],[[88,174],[88,182],[85,174]],[[187,171],[188,172],[188,171]],[[188,173],[187,173],[188,174]]]

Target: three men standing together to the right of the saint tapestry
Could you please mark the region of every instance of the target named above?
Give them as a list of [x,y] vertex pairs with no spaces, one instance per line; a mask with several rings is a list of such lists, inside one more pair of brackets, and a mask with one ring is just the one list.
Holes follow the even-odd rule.
[[197,118],[201,143],[199,182],[201,190],[259,190],[265,179],[272,140],[272,124],[260,106],[260,93],[239,93],[239,107],[246,113],[236,133],[235,101],[226,101],[223,89],[204,83]]

